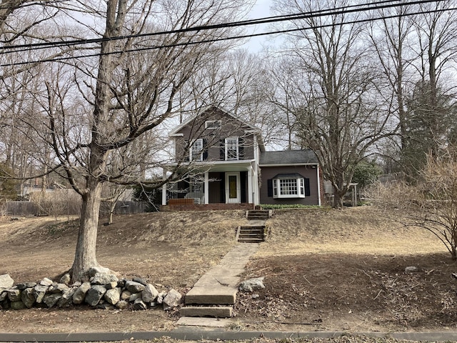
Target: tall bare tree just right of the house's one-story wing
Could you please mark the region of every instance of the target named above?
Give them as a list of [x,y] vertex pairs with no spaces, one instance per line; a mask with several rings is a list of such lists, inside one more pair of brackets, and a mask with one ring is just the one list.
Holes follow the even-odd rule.
[[[276,11],[310,12],[348,1],[276,1]],[[293,99],[301,145],[318,156],[334,189],[334,207],[343,206],[354,168],[374,144],[390,133],[389,114],[376,99],[378,74],[361,43],[363,26],[352,14],[328,14],[295,21],[304,28],[289,36],[286,53],[303,81]]]

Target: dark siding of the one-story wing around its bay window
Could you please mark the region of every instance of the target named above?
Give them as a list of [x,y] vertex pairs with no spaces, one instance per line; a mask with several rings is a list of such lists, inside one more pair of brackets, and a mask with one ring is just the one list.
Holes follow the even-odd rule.
[[[261,189],[260,203],[261,204],[303,204],[303,205],[318,205],[318,169],[311,166],[262,166],[261,167]],[[294,174],[298,173],[309,179],[311,195],[305,198],[293,199],[274,199],[268,197],[268,179],[273,179],[277,174]]]

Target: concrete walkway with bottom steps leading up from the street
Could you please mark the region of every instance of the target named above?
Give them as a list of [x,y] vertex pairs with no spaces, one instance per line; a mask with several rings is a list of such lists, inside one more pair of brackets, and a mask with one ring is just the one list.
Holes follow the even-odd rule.
[[[204,274],[186,294],[186,307],[180,310],[178,324],[189,324],[185,317],[231,317],[233,307],[187,307],[187,305],[233,305],[236,302],[239,277],[249,259],[258,250],[258,244],[237,244],[221,259],[221,262]],[[192,320],[192,322],[195,322]]]

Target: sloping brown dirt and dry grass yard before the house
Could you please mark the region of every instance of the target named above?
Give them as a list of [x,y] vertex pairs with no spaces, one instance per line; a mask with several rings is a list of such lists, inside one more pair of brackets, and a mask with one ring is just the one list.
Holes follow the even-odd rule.
[[[243,212],[175,212],[115,217],[99,227],[99,263],[186,293],[233,247]],[[258,297],[241,294],[228,329],[403,331],[457,329],[457,272],[446,248],[372,207],[275,212],[244,277],[265,277]],[[0,274],[15,282],[71,267],[77,220],[0,223]],[[420,272],[406,274],[406,267]],[[457,300],[456,300],[457,301]],[[0,310],[3,332],[173,329],[179,314],[71,309]]]

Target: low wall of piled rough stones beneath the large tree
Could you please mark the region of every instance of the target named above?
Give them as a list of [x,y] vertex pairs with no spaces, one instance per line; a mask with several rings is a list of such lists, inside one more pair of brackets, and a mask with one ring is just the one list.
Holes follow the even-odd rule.
[[70,307],[89,304],[102,309],[174,309],[181,304],[181,294],[175,289],[159,292],[144,279],[118,279],[108,269],[93,268],[90,282],[69,284],[65,274],[59,282],[44,278],[40,282],[20,282],[8,274],[0,275],[0,309],[31,307]]

